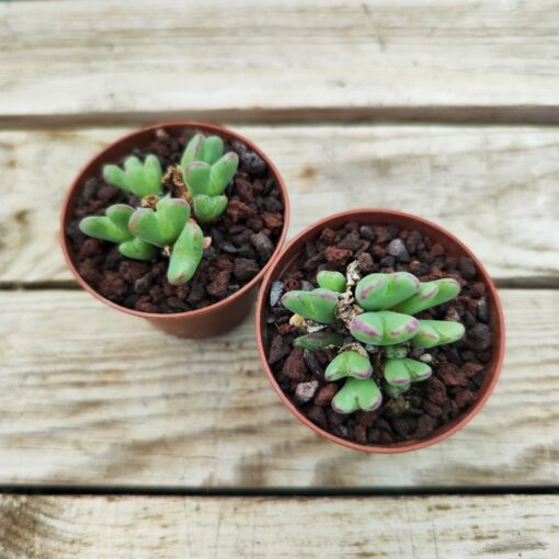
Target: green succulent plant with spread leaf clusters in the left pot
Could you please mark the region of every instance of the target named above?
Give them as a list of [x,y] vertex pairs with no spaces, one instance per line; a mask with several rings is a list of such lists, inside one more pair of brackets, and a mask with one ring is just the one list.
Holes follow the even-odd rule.
[[[197,221],[214,221],[224,213],[224,192],[238,166],[237,153],[224,155],[224,141],[218,136],[196,134],[189,141],[180,168]],[[148,155],[141,161],[130,156],[122,168],[105,166],[103,176],[113,186],[141,198],[141,207],[116,204],[104,216],[83,218],[81,231],[118,244],[121,253],[130,259],[152,260],[158,249],[162,250],[169,256],[169,282],[182,285],[191,280],[202,260],[204,233],[191,216],[189,202],[163,195],[159,159]]]

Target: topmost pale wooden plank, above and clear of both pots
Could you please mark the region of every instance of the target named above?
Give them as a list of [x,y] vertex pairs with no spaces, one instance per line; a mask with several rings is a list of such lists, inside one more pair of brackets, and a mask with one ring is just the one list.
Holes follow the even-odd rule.
[[554,0],[2,3],[1,122],[316,109],[557,122],[558,15]]

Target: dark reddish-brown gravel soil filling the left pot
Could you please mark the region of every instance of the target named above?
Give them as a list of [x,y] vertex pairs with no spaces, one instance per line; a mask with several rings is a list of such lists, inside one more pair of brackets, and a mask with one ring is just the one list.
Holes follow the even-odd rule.
[[[159,158],[163,174],[179,162],[185,145],[197,130],[171,137],[164,129],[153,133],[153,142],[133,155]],[[139,207],[140,201],[107,184],[101,174],[81,186],[67,235],[80,275],[103,297],[144,312],[185,312],[225,299],[250,282],[275,250],[284,225],[284,205],[280,187],[265,162],[241,142],[225,142],[226,151],[239,155],[239,170],[227,187],[225,214],[212,225],[201,225],[212,244],[193,278],[182,286],[167,281],[168,256],[161,253],[152,262],[123,256],[115,244],[85,237],[79,230],[82,217],[103,215],[112,204]],[[106,161],[118,163],[118,161]],[[101,173],[101,170],[100,170]],[[166,191],[181,192],[171,179],[163,180]]]

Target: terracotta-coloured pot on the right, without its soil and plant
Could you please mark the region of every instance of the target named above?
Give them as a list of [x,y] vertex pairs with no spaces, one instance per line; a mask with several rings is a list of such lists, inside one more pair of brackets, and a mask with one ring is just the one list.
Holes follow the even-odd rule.
[[[484,384],[480,389],[478,400],[474,406],[471,406],[471,408],[469,408],[464,414],[459,415],[446,425],[435,430],[429,438],[421,441],[410,440],[390,445],[364,445],[353,441],[346,441],[345,438],[324,431],[323,429],[312,423],[309,419],[307,419],[289,400],[287,395],[277,384],[272,369],[267,364],[269,349],[266,342],[267,324],[265,323],[265,311],[269,305],[270,288],[273,282],[282,277],[282,275],[294,262],[294,260],[305,249],[305,243],[316,239],[324,227],[336,229],[345,225],[347,221],[357,221],[365,225],[397,225],[402,229],[415,229],[421,233],[430,237],[435,242],[440,242],[443,247],[445,247],[448,254],[453,256],[468,256],[474,260],[480,281],[483,282],[487,286],[487,297],[491,309],[490,326],[493,334],[493,346],[491,360],[487,365]],[[418,450],[420,448],[434,445],[435,443],[440,443],[441,441],[450,436],[453,433],[456,433],[458,430],[460,430],[481,410],[489,396],[493,391],[493,388],[499,378],[499,373],[501,370],[504,355],[504,319],[497,289],[486,269],[482,266],[481,262],[472,254],[472,252],[452,233],[431,221],[409,214],[391,212],[388,209],[355,209],[335,214],[311,225],[297,237],[295,237],[295,239],[293,239],[282,251],[282,254],[277,260],[275,260],[266,276],[264,277],[264,282],[260,289],[256,306],[256,341],[260,356],[262,358],[262,363],[264,364],[264,370],[270,383],[272,384],[272,387],[276,391],[280,399],[284,402],[284,404],[299,421],[309,426],[312,431],[315,431],[315,433],[318,433],[324,438],[349,448],[363,450],[366,453],[396,454]]]

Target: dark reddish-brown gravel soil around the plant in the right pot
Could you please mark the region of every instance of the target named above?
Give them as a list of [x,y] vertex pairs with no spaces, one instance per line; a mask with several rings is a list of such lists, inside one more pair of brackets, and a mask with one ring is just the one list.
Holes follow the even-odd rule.
[[[327,383],[323,376],[335,351],[294,347],[293,340],[301,332],[289,326],[292,312],[282,306],[280,297],[290,289],[317,287],[318,272],[345,273],[346,265],[354,260],[360,262],[362,276],[406,271],[422,282],[454,277],[460,283],[460,295],[417,317],[460,321],[466,334],[453,344],[425,350],[433,360],[430,364],[433,375],[427,380],[412,384],[397,399],[383,393],[381,407],[373,412],[340,414],[331,408],[331,401],[345,379]],[[423,440],[461,415],[478,399],[486,379],[486,364],[492,354],[490,312],[486,285],[478,281],[474,261],[447,255],[444,247],[418,231],[357,223],[336,230],[324,228],[272,286],[266,316],[269,363],[289,399],[326,431],[370,445]],[[381,374],[378,367],[375,370],[380,386]]]

